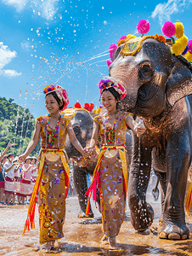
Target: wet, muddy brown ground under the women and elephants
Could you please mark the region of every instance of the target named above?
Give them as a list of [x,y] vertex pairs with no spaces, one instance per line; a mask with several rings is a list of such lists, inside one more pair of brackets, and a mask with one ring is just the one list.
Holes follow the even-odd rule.
[[186,216],[190,230],[188,240],[167,241],[157,236],[155,228],[161,214],[160,201],[155,202],[148,195],[149,202],[155,210],[152,224],[154,232],[138,234],[130,223],[127,207],[126,219],[117,236],[121,250],[112,251],[108,245],[100,243],[102,237],[101,218],[98,209],[93,207],[95,218],[76,218],[79,211],[77,197],[67,198],[67,212],[64,225],[65,239],[57,244],[51,253],[37,251],[38,246],[38,215],[36,211],[36,228],[22,236],[28,206],[0,207],[0,255],[52,255],[58,256],[121,256],[121,255],[192,255],[192,217]]

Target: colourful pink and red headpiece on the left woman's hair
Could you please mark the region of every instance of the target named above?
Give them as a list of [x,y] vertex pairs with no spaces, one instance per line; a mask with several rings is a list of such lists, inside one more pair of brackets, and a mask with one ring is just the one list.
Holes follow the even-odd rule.
[[65,110],[65,108],[67,108],[68,104],[69,104],[69,96],[67,95],[67,92],[66,90],[56,84],[48,84],[48,86],[46,86],[44,89],[43,89],[43,93],[47,96],[49,93],[55,91],[55,93],[57,94],[57,96],[59,97],[59,100],[60,101],[63,101],[64,102],[64,107],[62,109],[62,111]]

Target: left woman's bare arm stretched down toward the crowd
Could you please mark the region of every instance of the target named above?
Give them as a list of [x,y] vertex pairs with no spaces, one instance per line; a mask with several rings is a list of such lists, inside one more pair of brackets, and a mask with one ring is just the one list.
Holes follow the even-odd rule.
[[37,143],[39,141],[39,137],[40,137],[40,131],[41,131],[41,125],[39,124],[39,122],[36,122],[34,135],[28,147],[26,148],[25,153],[20,155],[19,157],[20,160],[25,161],[25,158],[32,152],[34,148],[36,148]]

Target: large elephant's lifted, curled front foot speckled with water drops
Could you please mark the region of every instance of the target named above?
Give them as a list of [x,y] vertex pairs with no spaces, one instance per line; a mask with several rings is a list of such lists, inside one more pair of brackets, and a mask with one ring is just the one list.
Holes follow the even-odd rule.
[[146,204],[146,207],[140,208],[139,213],[134,215],[131,212],[131,224],[133,224],[133,228],[138,232],[144,232],[145,230],[149,230],[150,225],[153,223],[154,219],[154,211],[150,204]]

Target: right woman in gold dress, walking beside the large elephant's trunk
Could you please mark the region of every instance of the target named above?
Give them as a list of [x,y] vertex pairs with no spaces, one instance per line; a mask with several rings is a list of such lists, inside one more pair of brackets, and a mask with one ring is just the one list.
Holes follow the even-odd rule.
[[[144,125],[136,126],[133,114],[118,110],[119,101],[126,96],[125,88],[115,79],[101,79],[99,82],[101,101],[105,112],[93,120],[93,137],[86,148],[93,150],[98,136],[101,137],[101,150],[92,183],[86,195],[88,198],[87,214],[90,197],[96,201],[96,189],[99,188],[100,207],[104,237],[110,248],[116,249],[116,236],[125,216],[127,197],[127,159],[125,151],[126,131],[129,126],[138,135],[145,131]],[[135,124],[135,125],[134,125]]]

